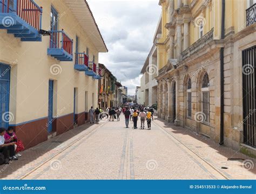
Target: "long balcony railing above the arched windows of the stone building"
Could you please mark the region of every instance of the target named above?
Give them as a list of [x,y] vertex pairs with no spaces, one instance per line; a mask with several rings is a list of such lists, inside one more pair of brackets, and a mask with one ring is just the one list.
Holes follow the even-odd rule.
[[207,45],[209,42],[213,40],[213,28],[211,31],[206,33],[202,38],[194,42],[190,47],[188,47],[185,51],[181,53],[181,60],[188,58],[188,56],[193,53],[198,52],[201,48]]

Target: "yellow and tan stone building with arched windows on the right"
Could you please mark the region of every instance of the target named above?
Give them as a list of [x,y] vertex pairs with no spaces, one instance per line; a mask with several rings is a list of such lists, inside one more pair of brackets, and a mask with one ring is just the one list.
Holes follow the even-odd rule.
[[161,0],[159,116],[256,155],[256,2]]

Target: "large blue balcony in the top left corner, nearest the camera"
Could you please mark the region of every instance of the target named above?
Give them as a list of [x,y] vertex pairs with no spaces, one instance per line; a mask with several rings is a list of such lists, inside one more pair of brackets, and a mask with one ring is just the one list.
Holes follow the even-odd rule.
[[21,41],[42,41],[42,12],[33,0],[0,0],[0,29]]

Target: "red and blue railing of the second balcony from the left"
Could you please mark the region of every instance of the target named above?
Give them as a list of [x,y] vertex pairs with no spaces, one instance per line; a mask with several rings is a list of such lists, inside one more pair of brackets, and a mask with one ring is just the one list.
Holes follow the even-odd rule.
[[64,49],[64,51],[73,55],[73,40],[65,34],[63,29],[62,31],[51,31],[50,48]]

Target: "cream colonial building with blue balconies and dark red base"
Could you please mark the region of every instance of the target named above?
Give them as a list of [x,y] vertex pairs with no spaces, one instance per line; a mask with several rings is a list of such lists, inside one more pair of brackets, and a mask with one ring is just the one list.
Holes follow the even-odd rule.
[[82,125],[107,52],[84,0],[0,0],[2,127],[26,148]]

